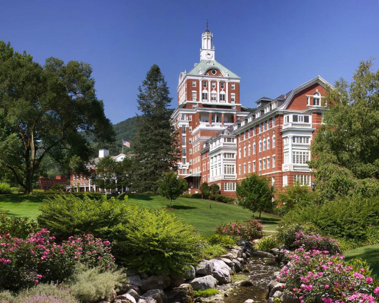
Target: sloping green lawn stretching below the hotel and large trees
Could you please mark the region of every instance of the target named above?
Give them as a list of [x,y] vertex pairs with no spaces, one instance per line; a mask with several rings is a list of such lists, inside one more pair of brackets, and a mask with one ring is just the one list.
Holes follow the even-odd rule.
[[[45,198],[53,195],[0,195],[0,209],[9,211],[11,216],[22,216],[36,219],[39,214],[39,205]],[[94,196],[99,197],[99,196]],[[138,204],[150,209],[161,209],[169,206],[169,202],[157,195],[129,195],[130,204]],[[212,208],[209,207],[212,206]],[[178,198],[172,202],[173,210],[177,216],[188,223],[196,225],[197,230],[203,236],[211,236],[218,224],[234,220],[247,221],[252,218],[252,213],[238,205],[231,205],[216,201],[208,201],[193,198]],[[171,210],[170,210],[171,211]],[[255,218],[259,213],[255,214]],[[261,223],[265,231],[274,230],[280,217],[262,213]]]

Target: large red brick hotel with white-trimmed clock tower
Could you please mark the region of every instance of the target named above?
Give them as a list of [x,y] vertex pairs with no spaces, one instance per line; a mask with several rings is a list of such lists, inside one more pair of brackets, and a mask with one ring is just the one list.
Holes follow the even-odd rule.
[[306,161],[330,84],[317,76],[277,98],[260,98],[250,113],[240,103],[240,80],[215,60],[213,35],[206,30],[200,62],[179,75],[172,114],[182,142],[179,175],[190,192],[200,192],[207,181],[233,197],[236,182],[253,172],[270,178],[277,189],[294,180],[310,186]]

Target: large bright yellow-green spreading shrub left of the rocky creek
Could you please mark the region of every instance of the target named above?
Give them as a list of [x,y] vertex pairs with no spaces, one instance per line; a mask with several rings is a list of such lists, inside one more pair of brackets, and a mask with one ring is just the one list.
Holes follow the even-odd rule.
[[115,197],[65,195],[48,200],[41,211],[38,222],[59,236],[92,233],[116,242],[116,261],[139,272],[177,275],[201,255],[194,226],[163,209],[150,211]]

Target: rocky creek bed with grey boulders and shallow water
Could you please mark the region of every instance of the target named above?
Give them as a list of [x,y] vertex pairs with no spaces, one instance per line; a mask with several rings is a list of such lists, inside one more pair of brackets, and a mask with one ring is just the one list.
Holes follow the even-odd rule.
[[[270,291],[278,288],[271,281],[279,270],[276,259],[279,261],[272,253],[256,251],[252,243],[242,241],[226,255],[202,260],[180,278],[146,273],[129,276],[128,284],[97,303],[263,303]],[[219,294],[208,298],[194,295],[194,291],[210,288]]]

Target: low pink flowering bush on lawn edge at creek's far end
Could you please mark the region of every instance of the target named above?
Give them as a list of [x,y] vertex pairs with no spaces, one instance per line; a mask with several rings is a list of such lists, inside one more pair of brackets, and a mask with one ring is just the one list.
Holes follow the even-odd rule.
[[215,232],[245,240],[260,239],[263,237],[263,225],[257,220],[232,222],[218,225]]

